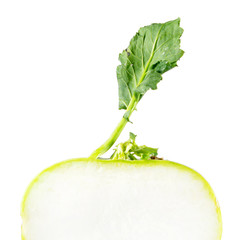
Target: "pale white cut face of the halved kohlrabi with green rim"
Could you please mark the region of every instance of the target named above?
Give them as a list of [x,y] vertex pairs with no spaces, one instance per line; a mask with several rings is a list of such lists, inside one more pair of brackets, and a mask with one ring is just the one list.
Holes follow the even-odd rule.
[[42,172],[22,204],[24,240],[219,240],[208,183],[169,161],[77,159]]

